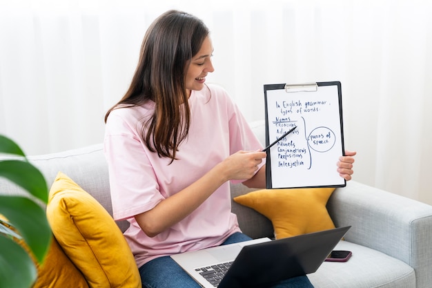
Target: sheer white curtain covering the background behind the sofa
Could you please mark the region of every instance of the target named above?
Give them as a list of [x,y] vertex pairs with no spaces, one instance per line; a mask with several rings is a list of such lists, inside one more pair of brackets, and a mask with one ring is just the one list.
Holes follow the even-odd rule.
[[101,142],[146,28],[176,8],[210,28],[208,81],[247,119],[264,84],[341,81],[355,180],[432,204],[431,1],[0,1],[0,133],[28,155]]

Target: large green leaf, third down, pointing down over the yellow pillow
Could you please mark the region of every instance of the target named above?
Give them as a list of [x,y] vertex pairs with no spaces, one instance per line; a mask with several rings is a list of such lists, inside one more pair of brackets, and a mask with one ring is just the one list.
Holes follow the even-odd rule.
[[42,207],[25,197],[0,195],[0,213],[19,231],[35,258],[42,262],[51,240],[50,225]]

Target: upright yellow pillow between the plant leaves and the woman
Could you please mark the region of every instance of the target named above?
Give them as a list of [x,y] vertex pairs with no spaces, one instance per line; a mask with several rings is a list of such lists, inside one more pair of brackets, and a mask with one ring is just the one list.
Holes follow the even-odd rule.
[[51,186],[46,213],[52,233],[90,288],[141,288],[132,252],[115,221],[61,172]]

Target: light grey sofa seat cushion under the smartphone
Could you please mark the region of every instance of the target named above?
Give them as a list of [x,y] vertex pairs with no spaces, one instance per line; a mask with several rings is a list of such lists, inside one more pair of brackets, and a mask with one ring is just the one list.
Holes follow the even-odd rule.
[[353,256],[347,262],[324,262],[308,275],[315,288],[415,288],[412,267],[379,251],[347,241],[335,250],[348,250]]

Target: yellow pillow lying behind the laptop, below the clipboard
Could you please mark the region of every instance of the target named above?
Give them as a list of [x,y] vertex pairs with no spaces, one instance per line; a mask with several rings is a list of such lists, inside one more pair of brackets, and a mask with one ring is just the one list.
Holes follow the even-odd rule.
[[326,204],[334,188],[264,189],[239,195],[234,201],[271,220],[275,238],[335,228]]

